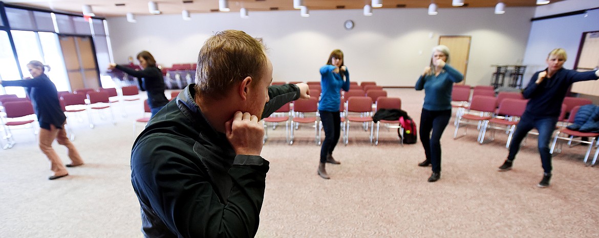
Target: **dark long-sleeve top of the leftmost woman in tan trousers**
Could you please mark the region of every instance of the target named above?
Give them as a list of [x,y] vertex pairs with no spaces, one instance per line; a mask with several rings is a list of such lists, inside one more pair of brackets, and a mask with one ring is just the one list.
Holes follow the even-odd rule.
[[66,116],[62,112],[58,101],[56,86],[46,74],[41,74],[33,79],[2,81],[3,86],[18,86],[28,88],[31,104],[35,109],[40,127],[50,129],[50,125],[62,128]]

